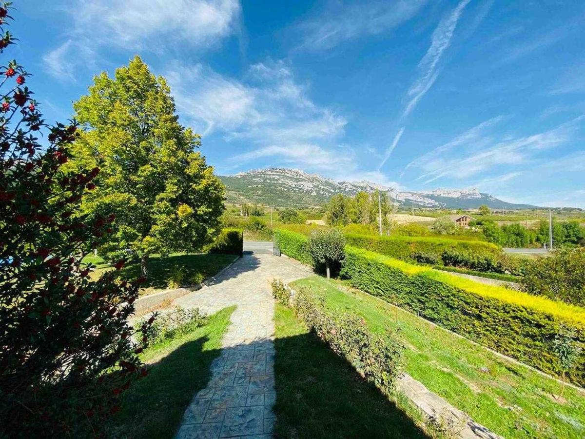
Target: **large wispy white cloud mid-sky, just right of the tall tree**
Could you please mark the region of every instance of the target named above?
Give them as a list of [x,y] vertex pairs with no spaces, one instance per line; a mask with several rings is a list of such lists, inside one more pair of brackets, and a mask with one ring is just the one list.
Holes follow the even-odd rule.
[[312,101],[288,62],[254,64],[242,79],[176,62],[165,76],[178,110],[196,131],[253,146],[230,163],[271,157],[307,170],[355,169],[353,150],[338,145],[346,119]]

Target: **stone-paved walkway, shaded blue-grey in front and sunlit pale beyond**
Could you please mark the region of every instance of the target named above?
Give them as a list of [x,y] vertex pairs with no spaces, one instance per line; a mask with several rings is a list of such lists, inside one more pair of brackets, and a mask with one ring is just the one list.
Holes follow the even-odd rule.
[[212,378],[185,411],[177,439],[270,438],[274,423],[274,301],[269,280],[311,275],[300,263],[245,255],[199,291],[173,305],[212,314],[236,305]]

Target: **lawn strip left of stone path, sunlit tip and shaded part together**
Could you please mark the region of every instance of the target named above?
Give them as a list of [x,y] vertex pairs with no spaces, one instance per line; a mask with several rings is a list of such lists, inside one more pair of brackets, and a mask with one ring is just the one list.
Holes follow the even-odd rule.
[[174,437],[192,397],[207,385],[233,310],[224,308],[207,325],[144,350],[142,359],[152,365],[150,373],[123,396],[113,437]]

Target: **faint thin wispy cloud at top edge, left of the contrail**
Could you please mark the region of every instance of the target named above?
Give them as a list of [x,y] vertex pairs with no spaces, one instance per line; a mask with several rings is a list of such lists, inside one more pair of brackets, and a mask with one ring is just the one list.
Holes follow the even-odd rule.
[[297,49],[321,51],[347,40],[387,32],[408,21],[420,11],[426,0],[330,4],[317,18],[301,22],[296,30],[302,35]]

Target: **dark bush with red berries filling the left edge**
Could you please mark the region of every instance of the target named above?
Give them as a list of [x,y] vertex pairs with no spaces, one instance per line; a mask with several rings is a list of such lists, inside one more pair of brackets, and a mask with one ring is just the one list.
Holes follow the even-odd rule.
[[[9,7],[0,52],[13,43]],[[140,280],[90,279],[81,259],[114,220],[79,213],[99,169],[61,169],[77,124],[46,125],[28,77],[16,61],[0,67],[0,437],[104,435],[121,393],[147,373],[149,323],[128,325]]]

